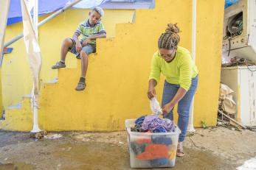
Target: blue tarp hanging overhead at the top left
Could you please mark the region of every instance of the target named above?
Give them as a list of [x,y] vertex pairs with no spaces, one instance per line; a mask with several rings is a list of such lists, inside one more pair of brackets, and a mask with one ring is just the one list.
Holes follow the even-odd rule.
[[[74,0],[38,0],[38,15],[52,13],[59,10]],[[102,4],[104,0],[83,0],[75,4],[75,8],[88,9]],[[22,21],[21,0],[10,0],[10,8],[8,13],[7,25]]]

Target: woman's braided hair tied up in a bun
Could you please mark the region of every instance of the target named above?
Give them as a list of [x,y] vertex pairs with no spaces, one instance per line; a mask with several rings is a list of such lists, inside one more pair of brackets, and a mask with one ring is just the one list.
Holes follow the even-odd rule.
[[159,49],[177,49],[180,40],[178,33],[177,24],[168,24],[165,33],[162,33],[158,40]]

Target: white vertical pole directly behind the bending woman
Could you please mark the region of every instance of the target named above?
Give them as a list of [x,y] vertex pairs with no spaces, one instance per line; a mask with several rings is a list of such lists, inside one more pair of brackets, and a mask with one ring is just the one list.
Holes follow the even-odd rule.
[[[192,58],[194,62],[196,63],[196,0],[193,0],[192,2]],[[193,116],[194,116],[194,97],[192,99],[192,103],[190,105],[190,119],[188,121],[187,131],[188,132],[195,132],[195,128],[193,125]]]

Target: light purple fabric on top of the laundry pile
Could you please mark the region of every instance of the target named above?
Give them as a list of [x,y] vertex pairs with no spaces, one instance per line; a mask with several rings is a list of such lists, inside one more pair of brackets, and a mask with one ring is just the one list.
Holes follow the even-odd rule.
[[152,114],[145,116],[142,123],[142,130],[155,130],[158,127],[163,127],[167,132],[174,132],[175,125],[173,121],[167,122],[163,118],[159,118],[158,115]]

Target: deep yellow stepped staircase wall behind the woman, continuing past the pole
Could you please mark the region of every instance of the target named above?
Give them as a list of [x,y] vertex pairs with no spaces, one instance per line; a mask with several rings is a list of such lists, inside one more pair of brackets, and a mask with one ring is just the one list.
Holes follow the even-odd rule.
[[[181,28],[180,46],[191,49],[191,3],[190,0],[156,1],[154,10],[136,10],[135,24],[117,24],[115,38],[97,40],[97,54],[89,57],[86,91],[75,91],[80,77],[80,60],[77,60],[77,68],[60,69],[58,83],[44,84],[41,88],[40,127],[45,130],[123,130],[125,119],[150,113],[146,93],[157,40],[167,23],[178,23]],[[66,15],[52,21],[56,29],[63,24]],[[194,123],[200,127],[201,121],[206,121],[214,126],[221,71],[224,0],[198,0],[197,15],[196,64],[200,72]],[[55,28],[48,26],[51,26],[49,29]],[[44,40],[41,37],[42,54],[53,62],[49,56],[58,55],[60,40],[65,36],[49,31],[47,27],[44,29],[44,33],[49,35],[44,35]],[[76,60],[73,58],[69,62]],[[51,72],[50,68],[45,69]],[[159,101],[163,82],[162,77],[156,89]],[[3,127],[3,124],[0,127],[15,128]],[[19,130],[30,129],[24,127]]]

